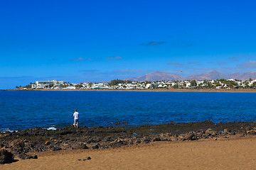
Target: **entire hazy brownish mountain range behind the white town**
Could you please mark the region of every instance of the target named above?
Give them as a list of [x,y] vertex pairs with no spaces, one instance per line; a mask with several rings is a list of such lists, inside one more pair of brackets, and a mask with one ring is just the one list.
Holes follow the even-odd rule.
[[217,72],[213,70],[212,72],[208,72],[206,74],[193,74],[190,77],[181,77],[178,74],[169,74],[166,72],[153,72],[151,74],[146,74],[141,77],[129,77],[124,80],[130,81],[161,81],[161,80],[185,80],[185,79],[195,79],[195,80],[212,80],[212,79],[239,79],[242,81],[248,79],[256,79],[256,72],[246,72],[244,74],[234,73],[234,74],[223,74],[221,72]]

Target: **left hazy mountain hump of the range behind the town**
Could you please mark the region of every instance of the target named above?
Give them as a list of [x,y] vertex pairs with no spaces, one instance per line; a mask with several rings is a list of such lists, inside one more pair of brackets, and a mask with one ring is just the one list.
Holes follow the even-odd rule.
[[130,81],[160,81],[160,80],[183,80],[184,77],[179,76],[178,74],[169,74],[166,72],[153,72],[151,74],[146,74],[144,76],[141,77],[137,77],[137,78],[132,78],[129,77],[127,79],[124,80],[130,80]]

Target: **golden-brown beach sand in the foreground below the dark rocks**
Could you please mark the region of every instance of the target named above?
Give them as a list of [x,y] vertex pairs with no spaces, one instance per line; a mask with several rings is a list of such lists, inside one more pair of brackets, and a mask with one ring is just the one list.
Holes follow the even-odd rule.
[[[38,159],[20,159],[0,169],[256,169],[256,137],[36,154]],[[91,159],[82,161],[85,157]]]

